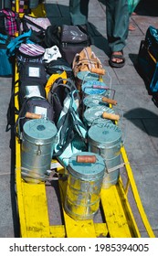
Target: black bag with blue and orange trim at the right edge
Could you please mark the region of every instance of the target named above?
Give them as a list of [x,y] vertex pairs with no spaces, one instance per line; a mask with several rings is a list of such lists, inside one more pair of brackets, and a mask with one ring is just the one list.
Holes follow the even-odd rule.
[[141,41],[138,53],[138,68],[146,85],[152,92],[158,91],[158,29],[150,26]]

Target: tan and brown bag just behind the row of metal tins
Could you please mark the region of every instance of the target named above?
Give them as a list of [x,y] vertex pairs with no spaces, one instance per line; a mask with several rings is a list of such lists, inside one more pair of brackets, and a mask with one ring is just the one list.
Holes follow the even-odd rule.
[[92,69],[104,70],[100,59],[96,57],[94,52],[91,50],[91,47],[83,48],[75,55],[72,63],[72,69],[75,77],[77,77],[77,74],[80,71],[91,72]]

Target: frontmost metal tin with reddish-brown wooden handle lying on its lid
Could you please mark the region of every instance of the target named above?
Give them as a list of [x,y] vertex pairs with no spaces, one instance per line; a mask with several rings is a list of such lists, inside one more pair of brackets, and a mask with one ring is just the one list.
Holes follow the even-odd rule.
[[[86,159],[86,161],[79,161],[79,159]],[[65,210],[70,217],[92,219],[97,213],[100,207],[100,189],[104,170],[104,159],[100,155],[81,152],[71,156],[65,197]]]

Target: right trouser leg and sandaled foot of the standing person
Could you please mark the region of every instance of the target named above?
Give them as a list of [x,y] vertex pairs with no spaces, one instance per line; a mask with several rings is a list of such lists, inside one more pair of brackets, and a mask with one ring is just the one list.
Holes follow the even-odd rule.
[[107,37],[111,49],[110,64],[112,67],[122,67],[122,49],[125,47],[129,30],[128,1],[106,0],[106,17]]

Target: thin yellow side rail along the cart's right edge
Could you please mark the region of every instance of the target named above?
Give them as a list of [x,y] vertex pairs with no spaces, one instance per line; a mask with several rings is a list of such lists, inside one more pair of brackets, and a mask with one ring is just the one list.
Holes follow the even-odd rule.
[[[122,159],[125,163],[129,162],[124,147],[121,147],[121,155],[122,155]],[[126,171],[127,171],[127,175],[129,177],[130,183],[131,183],[133,197],[135,199],[137,208],[140,212],[140,216],[142,218],[142,222],[144,224],[144,227],[145,227],[149,237],[150,238],[155,238],[155,235],[153,233],[153,229],[152,229],[152,227],[151,227],[151,225],[150,225],[150,223],[147,219],[144,208],[142,207],[142,201],[141,201],[141,198],[140,198],[139,193],[138,193],[138,189],[137,189],[136,184],[135,184],[135,180],[134,180],[134,177],[133,177],[133,174],[132,174],[132,168],[131,168],[130,164],[126,165]]]

